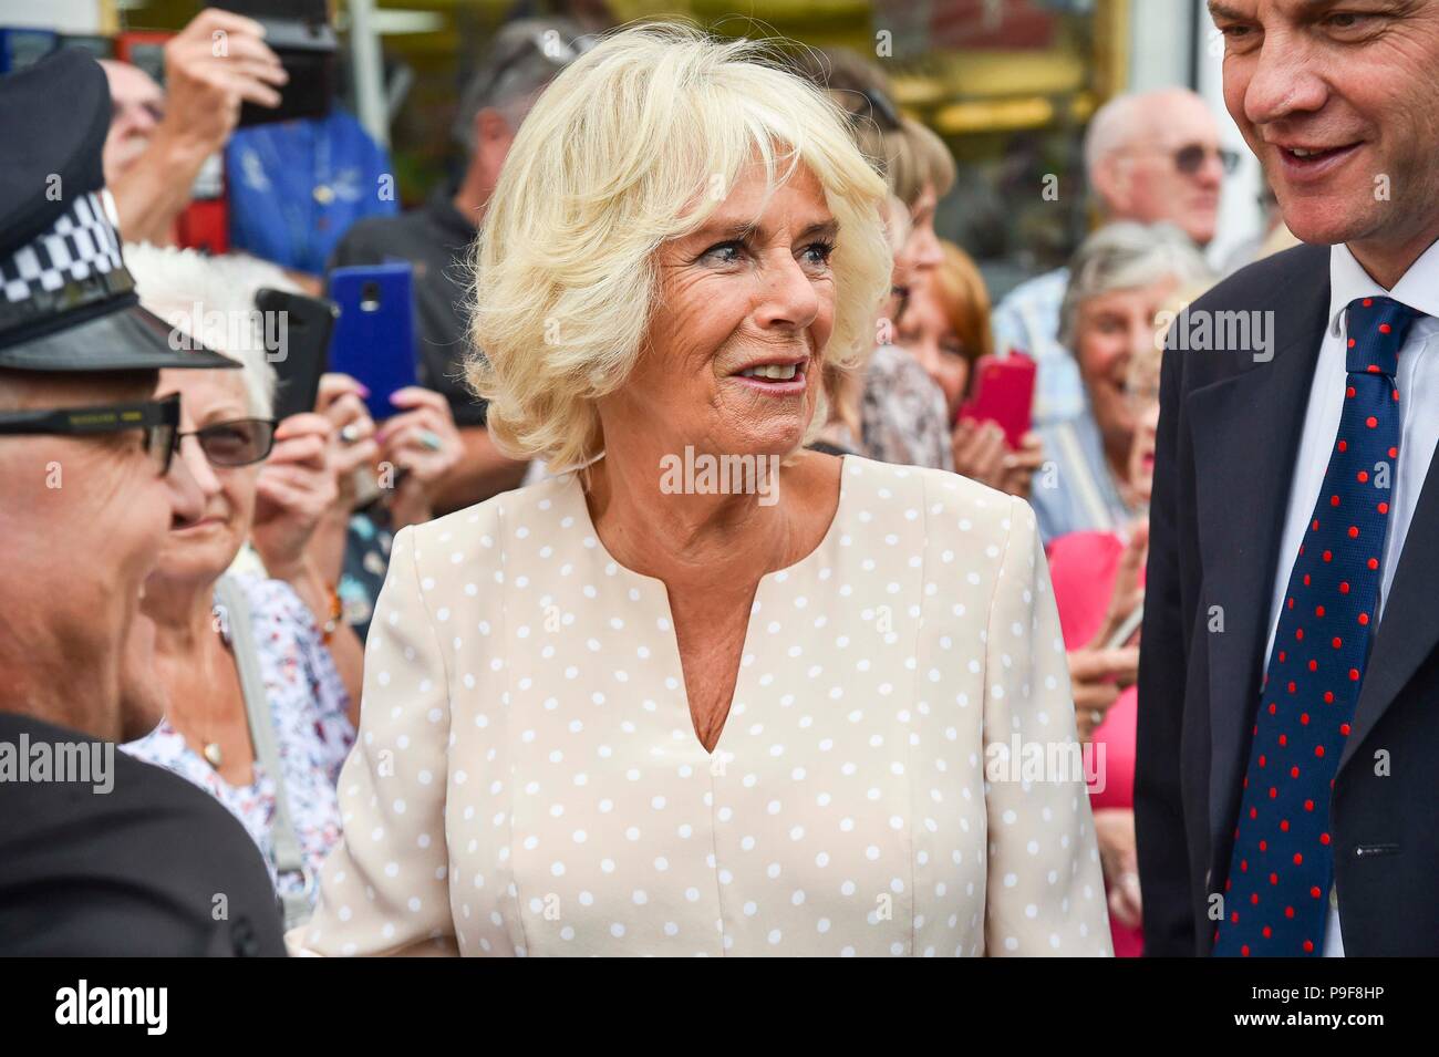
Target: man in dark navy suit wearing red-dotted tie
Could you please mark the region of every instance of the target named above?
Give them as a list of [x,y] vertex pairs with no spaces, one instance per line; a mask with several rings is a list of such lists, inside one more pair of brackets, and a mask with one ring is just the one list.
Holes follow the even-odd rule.
[[1337,7],[1210,1],[1229,112],[1309,244],[1194,302],[1164,357],[1151,955],[1439,955],[1439,4]]

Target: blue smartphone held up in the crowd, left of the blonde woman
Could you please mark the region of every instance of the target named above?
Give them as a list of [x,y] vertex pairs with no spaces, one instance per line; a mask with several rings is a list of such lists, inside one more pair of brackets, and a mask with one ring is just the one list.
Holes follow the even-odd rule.
[[330,273],[330,299],[340,306],[330,342],[330,370],[367,390],[370,417],[399,408],[390,395],[416,383],[413,269],[407,263],[357,265]]

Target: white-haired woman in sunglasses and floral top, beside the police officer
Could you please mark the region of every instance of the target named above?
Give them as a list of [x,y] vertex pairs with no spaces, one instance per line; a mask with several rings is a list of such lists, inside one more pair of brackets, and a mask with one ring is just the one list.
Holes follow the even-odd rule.
[[[158,394],[180,398],[174,457],[203,508],[171,526],[145,582],[167,703],[160,725],[124,748],[230,808],[265,853],[295,922],[340,836],[334,785],[358,715],[358,695],[335,663],[358,669],[358,643],[342,624],[327,636],[314,613],[324,604],[304,600],[314,594],[307,574],[288,572],[307,568],[308,536],[335,495],[331,426],[302,414],[276,429],[271,417],[275,375],[252,305],[258,288],[285,283],[282,273],[150,246],[127,259],[142,303],[174,335],[204,341],[243,370],[160,372]],[[355,447],[355,459],[376,453],[373,440]],[[232,572],[252,538],[263,564],[286,569],[298,590]]]

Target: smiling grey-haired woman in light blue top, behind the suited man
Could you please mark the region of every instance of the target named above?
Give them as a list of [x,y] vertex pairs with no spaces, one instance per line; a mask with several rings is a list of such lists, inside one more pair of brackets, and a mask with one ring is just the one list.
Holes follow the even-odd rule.
[[1134,414],[1125,398],[1130,358],[1163,341],[1154,316],[1176,290],[1210,270],[1173,224],[1107,224],[1079,246],[1059,315],[1059,341],[1085,390],[1075,418],[1040,427],[1048,456],[1029,502],[1048,544],[1068,532],[1115,532],[1137,513],[1130,482]]

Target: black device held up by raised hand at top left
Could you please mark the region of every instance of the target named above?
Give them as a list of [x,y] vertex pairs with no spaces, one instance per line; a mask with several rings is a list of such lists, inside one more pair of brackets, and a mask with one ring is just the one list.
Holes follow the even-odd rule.
[[263,24],[265,43],[289,75],[279,106],[240,106],[242,128],[330,114],[337,86],[335,30],[327,0],[226,0],[220,6]]

